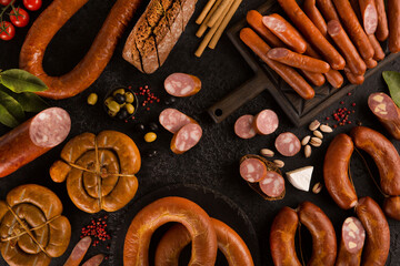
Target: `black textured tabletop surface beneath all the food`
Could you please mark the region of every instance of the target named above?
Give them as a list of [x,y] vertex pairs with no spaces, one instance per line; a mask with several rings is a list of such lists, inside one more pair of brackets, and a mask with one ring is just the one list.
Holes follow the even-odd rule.
[[[17,0],[17,2],[21,1]],[[89,49],[113,2],[114,1],[111,0],[89,1],[89,3],[87,3],[60,30],[50,43],[46,53],[44,69],[50,74],[59,75],[66,73],[79,62]],[[307,126],[299,129],[293,127],[284,116],[283,112],[279,109],[278,104],[273,102],[271,95],[267,92],[257,96],[221,124],[211,122],[211,119],[206,113],[207,108],[220,100],[223,95],[229,93],[229,91],[249,80],[252,76],[252,71],[246,64],[244,60],[241,59],[239,52],[236,51],[226,35],[222,37],[214,51],[207,50],[201,59],[197,59],[193,55],[200,43],[199,39],[194,37],[198,28],[198,25],[194,24],[194,18],[200,13],[201,8],[206,4],[206,0],[199,0],[196,13],[189,22],[187,30],[174,47],[164,65],[154,74],[142,74],[122,59],[121,51],[124,40],[127,39],[130,29],[132,29],[134,21],[144,9],[146,2],[148,1],[143,0],[141,9],[129,24],[122,40],[118,43],[114,55],[98,81],[78,96],[57,102],[49,101],[51,105],[66,109],[71,115],[72,130],[68,140],[87,131],[98,133],[102,130],[118,130],[132,137],[140,151],[149,149],[156,149],[158,151],[157,157],[143,158],[142,167],[138,173],[139,190],[134,200],[123,209],[110,215],[109,229],[113,237],[111,248],[107,249],[106,245],[91,247],[86,258],[100,252],[110,253],[110,263],[103,263],[103,265],[122,265],[121,248],[123,247],[123,231],[128,228],[134,213],[138,212],[144,203],[149,203],[152,200],[164,195],[162,188],[172,184],[198,185],[196,186],[198,187],[198,194],[193,194],[193,197],[198,198],[198,203],[211,214],[222,214],[219,218],[227,224],[230,224],[244,239],[256,239],[253,238],[256,236],[252,236],[251,234],[253,227],[258,243],[250,243],[249,246],[258,245],[260,252],[252,252],[254,253],[254,256],[260,256],[256,259],[260,259],[260,265],[272,264],[268,244],[269,228],[273,216],[282,206],[296,208],[300,202],[311,201],[327,213],[331,218],[336,231],[339,233],[344,218],[354,214],[352,211],[344,212],[337,207],[326,190],[319,195],[314,195],[311,192],[300,192],[287,183],[287,195],[282,201],[267,202],[254,193],[240,177],[238,161],[242,155],[258,153],[262,147],[272,147],[276,136],[281,132],[291,131],[300,139],[310,134],[310,132]],[[44,0],[44,6],[48,6],[49,3],[50,1]],[[232,22],[242,19],[248,10],[254,9],[262,3],[262,0],[244,0],[233,17]],[[30,12],[31,21],[33,21],[39,13],[40,11]],[[30,24],[32,22],[30,22]],[[27,31],[28,28],[17,29],[17,35],[12,41],[0,41],[0,69],[18,68],[19,51]],[[381,72],[383,70],[400,71],[400,61],[397,60],[382,68],[372,78],[368,79],[363,85],[358,86],[351,96],[343,98],[344,104],[338,102],[337,104],[327,108],[326,111],[316,119],[322,121],[326,116],[330,116],[338,108],[347,106],[349,109],[351,108],[351,103],[356,102],[356,113],[350,115],[353,124],[358,121],[362,122],[363,125],[379,130],[388,136],[387,132],[382,129],[377,119],[373,117],[367,106],[367,99],[370,93],[376,91],[388,92],[383,79],[381,78]],[[131,85],[133,89],[137,89],[148,84],[157,95],[164,98],[166,92],[162,89],[163,80],[173,72],[187,72],[198,75],[203,84],[200,93],[188,99],[180,99],[173,104],[173,108],[177,108],[198,120],[203,127],[203,137],[200,144],[183,155],[174,155],[169,150],[169,142],[172,135],[167,131],[160,130],[158,132],[158,140],[154,143],[144,143],[143,134],[134,130],[134,123],[126,124],[108,119],[100,103],[96,106],[86,104],[89,93],[96,92],[99,94],[99,98],[102,99],[107,92],[120,85]],[[159,112],[164,108],[166,105],[161,103],[152,105],[150,111],[140,110],[137,116],[143,123],[157,121]],[[268,136],[256,136],[251,140],[240,140],[234,135],[233,123],[236,119],[247,113],[256,114],[267,108],[274,110],[280,117],[280,126],[276,133]],[[329,122],[331,123],[331,120]],[[322,146],[313,149],[310,158],[304,158],[302,154],[289,158],[277,155],[276,158],[281,158],[286,162],[283,168],[284,172],[306,165],[313,165],[314,173],[312,176],[312,186],[317,182],[322,182],[322,163],[328,143],[336,134],[349,132],[353,124],[338,127],[333,133],[326,135]],[[9,129],[0,125],[0,134],[6,133],[8,130]],[[400,149],[399,142],[393,140],[393,143]],[[62,200],[64,204],[63,214],[70,219],[73,233],[69,249],[62,257],[53,259],[51,265],[62,265],[71,252],[71,248],[77,243],[81,227],[87,225],[91,218],[104,215],[104,213],[90,215],[79,211],[69,200],[66,185],[56,184],[50,180],[48,170],[59,157],[62,145],[53,149],[12,175],[0,180],[1,200],[6,197],[11,188],[27,183],[44,185],[56,192]],[[371,163],[371,165],[373,165],[373,163]],[[357,155],[353,155],[352,157],[351,171],[359,197],[369,195],[381,204],[383,197],[373,185],[361,160]],[[377,170],[373,168],[373,172],[377,173]],[[207,187],[208,190],[201,191],[199,190],[199,186]],[[157,193],[160,188],[161,193]],[[226,209],[222,203],[218,204],[221,200],[219,196],[217,196],[219,200],[216,201],[214,206],[212,206],[212,204],[210,205],[208,202],[210,196],[207,196],[208,194],[206,193],[209,190],[216,191],[218,192],[217,194],[230,198],[231,202],[229,200],[227,201],[229,202],[228,205],[231,206],[231,212],[219,212],[221,208]],[[202,194],[204,194],[203,197]],[[240,209],[246,213],[247,217],[252,223],[252,226],[249,225],[249,232],[246,226],[243,226],[246,225],[247,217],[243,218],[243,216],[241,216],[243,223],[240,222],[241,218],[238,218],[240,214],[242,214]],[[391,231],[391,248],[388,265],[399,265],[400,241],[398,237],[400,223],[389,219],[389,225]],[[311,242],[310,238],[307,237],[307,234],[304,241],[303,247],[308,249],[306,250],[306,254],[309,254]],[[3,260],[1,260],[0,264],[6,265]]]

